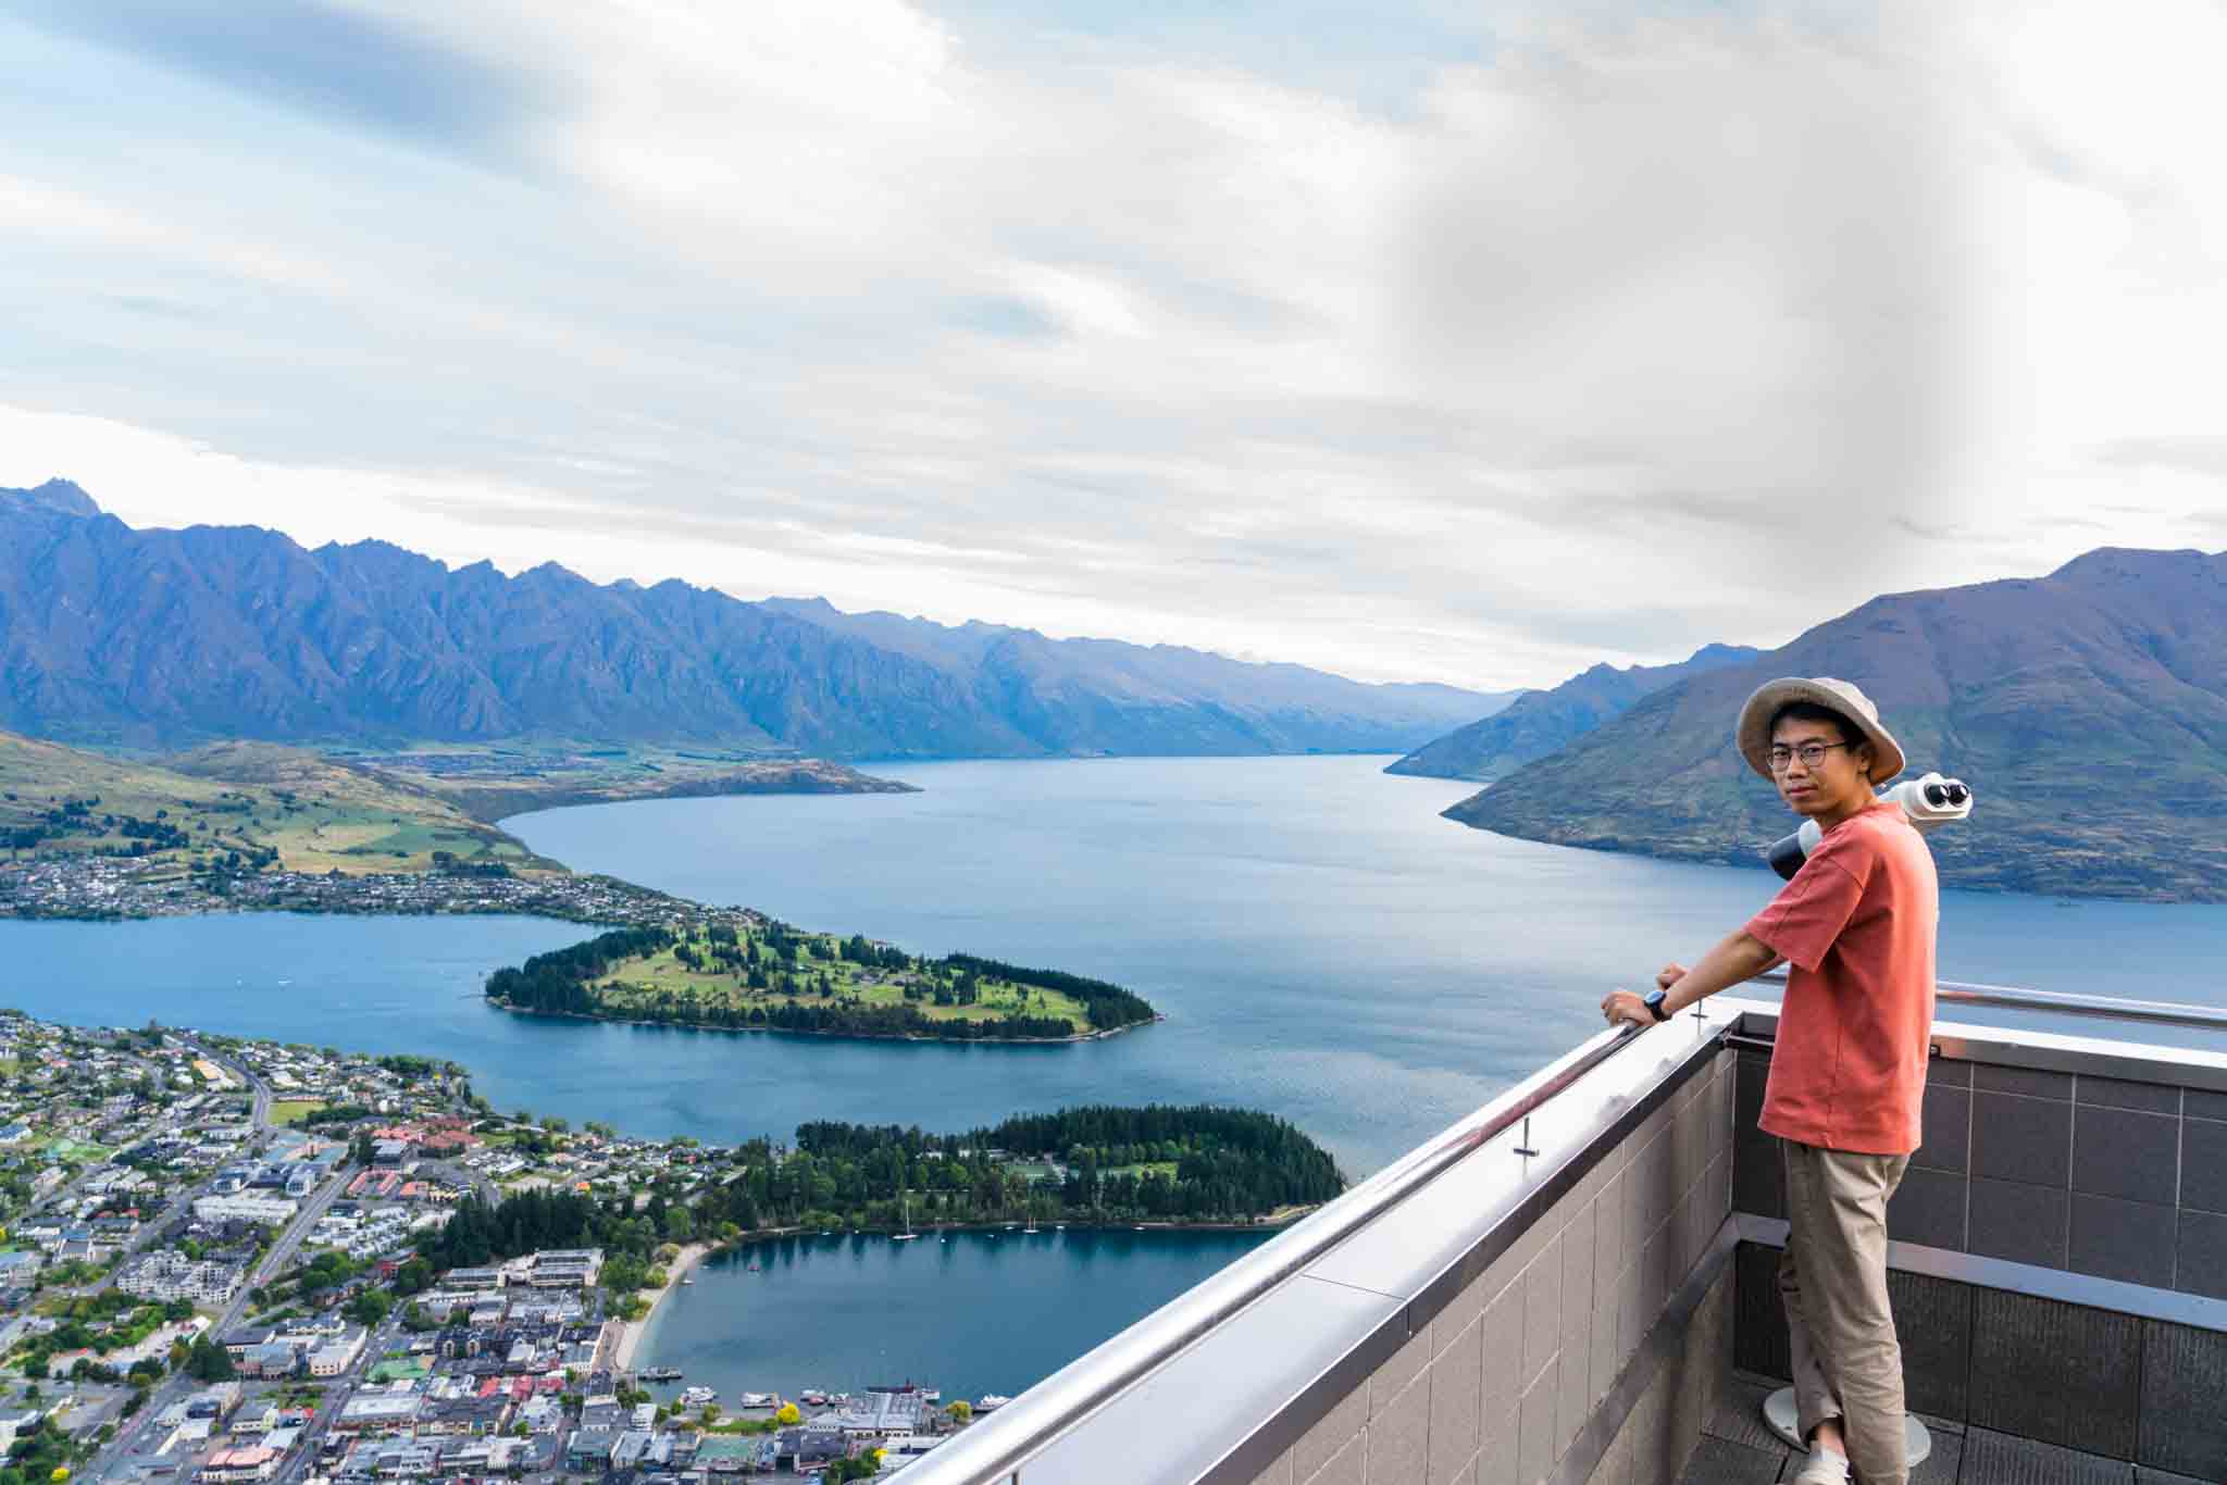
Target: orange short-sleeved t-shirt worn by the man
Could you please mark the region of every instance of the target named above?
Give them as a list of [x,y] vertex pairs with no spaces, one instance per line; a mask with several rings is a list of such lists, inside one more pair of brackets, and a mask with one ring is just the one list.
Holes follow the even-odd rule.
[[1764,1133],[1906,1155],[1933,1037],[1933,853],[1895,804],[1851,815],[1748,922],[1788,964]]

